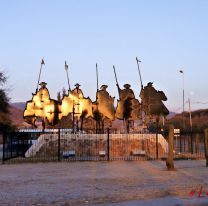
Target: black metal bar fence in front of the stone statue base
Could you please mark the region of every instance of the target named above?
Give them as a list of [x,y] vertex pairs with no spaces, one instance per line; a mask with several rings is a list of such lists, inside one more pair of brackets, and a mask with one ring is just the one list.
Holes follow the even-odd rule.
[[[70,129],[20,130],[4,134],[3,163],[36,161],[103,161],[166,159],[168,134],[104,134]],[[204,134],[184,133],[174,137],[175,159],[204,158]]]

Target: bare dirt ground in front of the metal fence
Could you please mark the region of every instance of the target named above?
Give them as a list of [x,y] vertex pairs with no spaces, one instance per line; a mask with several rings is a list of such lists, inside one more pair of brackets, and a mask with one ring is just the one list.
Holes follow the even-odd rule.
[[0,165],[0,205],[208,205],[205,161],[175,161],[175,167],[168,172],[163,161]]

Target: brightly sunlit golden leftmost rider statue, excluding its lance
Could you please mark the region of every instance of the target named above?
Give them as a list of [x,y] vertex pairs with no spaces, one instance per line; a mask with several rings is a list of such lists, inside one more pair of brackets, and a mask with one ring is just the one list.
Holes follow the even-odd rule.
[[40,89],[33,94],[32,100],[27,101],[23,115],[25,120],[34,127],[36,127],[36,120],[40,119],[43,129],[45,129],[46,122],[49,125],[55,125],[61,118],[60,105],[58,101],[50,99],[46,85],[45,82],[40,83]]

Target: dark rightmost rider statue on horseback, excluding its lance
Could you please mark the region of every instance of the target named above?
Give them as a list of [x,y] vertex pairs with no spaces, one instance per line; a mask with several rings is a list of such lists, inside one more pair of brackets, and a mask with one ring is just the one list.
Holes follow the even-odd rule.
[[163,101],[167,100],[163,91],[157,91],[152,82],[149,82],[140,93],[142,109],[145,115],[151,117],[167,116],[169,114],[168,109],[163,104]]

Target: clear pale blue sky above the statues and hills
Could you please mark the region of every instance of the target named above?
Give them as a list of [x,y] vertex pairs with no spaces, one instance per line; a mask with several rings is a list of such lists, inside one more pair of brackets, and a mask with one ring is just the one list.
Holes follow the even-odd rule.
[[[11,102],[30,100],[41,59],[41,81],[51,97],[66,89],[64,62],[71,87],[77,82],[95,100],[96,63],[99,86],[118,98],[129,83],[139,99],[136,57],[144,86],[163,90],[170,111],[208,108],[207,0],[0,0],[0,70],[5,71]],[[185,110],[188,104],[185,103]]]

